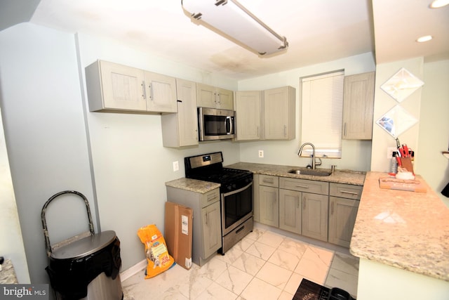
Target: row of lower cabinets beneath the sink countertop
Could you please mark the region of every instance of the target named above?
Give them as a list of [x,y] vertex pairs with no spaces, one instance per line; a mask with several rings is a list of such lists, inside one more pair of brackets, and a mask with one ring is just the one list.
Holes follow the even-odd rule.
[[362,185],[255,174],[254,190],[255,221],[349,247]]

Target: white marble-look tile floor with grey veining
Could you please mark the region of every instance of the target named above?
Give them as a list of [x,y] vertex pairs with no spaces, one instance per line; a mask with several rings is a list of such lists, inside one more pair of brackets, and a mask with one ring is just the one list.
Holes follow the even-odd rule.
[[173,266],[154,278],[144,270],[122,282],[124,300],[292,299],[302,278],[356,296],[358,258],[255,228],[224,256],[190,270]]

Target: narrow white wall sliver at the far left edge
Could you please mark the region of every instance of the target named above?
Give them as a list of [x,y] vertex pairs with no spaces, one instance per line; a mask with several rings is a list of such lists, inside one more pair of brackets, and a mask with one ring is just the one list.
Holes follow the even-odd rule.
[[[1,89],[0,89],[1,91]],[[1,99],[1,93],[0,93]],[[15,204],[13,179],[8,162],[8,152],[0,114],[0,256],[11,259],[20,283],[29,283],[29,273],[22,230],[20,230],[17,204]]]

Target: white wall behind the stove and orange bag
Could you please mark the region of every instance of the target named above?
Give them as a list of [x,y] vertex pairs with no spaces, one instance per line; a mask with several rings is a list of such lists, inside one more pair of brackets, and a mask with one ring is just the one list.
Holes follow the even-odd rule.
[[[77,34],[77,38],[83,77],[84,67],[102,59],[225,89],[235,90],[237,86],[236,81],[128,48],[117,41],[86,34]],[[239,144],[231,141],[201,143],[185,149],[164,148],[160,115],[87,111],[86,118],[101,229],[115,230],[121,240],[122,270],[145,259],[138,228],[154,223],[163,232],[165,183],[185,176],[184,157],[222,151],[225,164],[240,160]],[[174,161],[179,162],[179,171],[173,172]]]

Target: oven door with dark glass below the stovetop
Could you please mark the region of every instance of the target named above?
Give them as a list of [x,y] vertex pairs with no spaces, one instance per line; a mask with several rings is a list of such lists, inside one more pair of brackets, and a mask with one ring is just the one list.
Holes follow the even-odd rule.
[[230,233],[253,216],[253,183],[239,190],[222,193],[222,234]]

